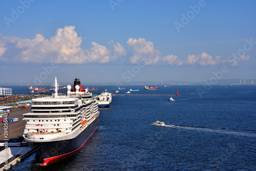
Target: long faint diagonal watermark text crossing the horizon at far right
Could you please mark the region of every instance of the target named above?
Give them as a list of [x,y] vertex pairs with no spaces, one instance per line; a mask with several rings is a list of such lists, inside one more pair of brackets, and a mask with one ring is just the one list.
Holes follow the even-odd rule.
[[[227,57],[227,62],[229,62],[231,64],[231,67],[236,66],[237,61],[240,61],[242,56],[245,56],[245,52],[250,51],[254,45],[256,45],[256,42],[252,41],[252,38],[245,39],[245,44],[243,45],[242,49],[239,49],[237,51],[237,53],[232,53],[232,55]],[[207,93],[208,91],[210,91],[212,89],[213,85],[216,85],[218,83],[218,80],[223,78],[224,74],[227,74],[229,72],[229,69],[227,66],[222,66],[220,71],[214,72],[212,71],[212,74],[214,76],[212,76],[209,81],[204,80],[204,89],[201,88],[197,88],[197,92],[200,96],[200,98],[202,98],[203,94]]]

